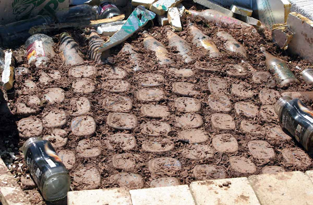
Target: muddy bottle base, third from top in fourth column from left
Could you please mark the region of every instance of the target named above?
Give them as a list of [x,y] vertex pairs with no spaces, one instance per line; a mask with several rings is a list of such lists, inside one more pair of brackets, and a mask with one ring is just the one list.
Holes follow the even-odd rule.
[[128,97],[108,96],[103,99],[102,106],[112,112],[129,112],[133,108],[133,102]]

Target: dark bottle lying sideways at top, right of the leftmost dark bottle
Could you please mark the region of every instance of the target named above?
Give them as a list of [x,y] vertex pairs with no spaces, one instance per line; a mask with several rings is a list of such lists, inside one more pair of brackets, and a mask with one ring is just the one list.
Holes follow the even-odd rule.
[[98,20],[99,13],[100,9],[98,6],[82,4],[60,9],[55,13],[55,16],[59,23],[82,22]]

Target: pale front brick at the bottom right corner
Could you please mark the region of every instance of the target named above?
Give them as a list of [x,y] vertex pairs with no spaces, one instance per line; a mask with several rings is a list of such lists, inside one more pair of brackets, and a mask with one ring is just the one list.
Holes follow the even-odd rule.
[[313,204],[313,184],[300,171],[254,175],[248,180],[262,205]]

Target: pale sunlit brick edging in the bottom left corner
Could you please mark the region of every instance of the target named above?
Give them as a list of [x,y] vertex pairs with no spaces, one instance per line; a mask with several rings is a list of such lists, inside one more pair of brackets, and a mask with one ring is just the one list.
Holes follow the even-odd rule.
[[0,158],[0,204],[31,205],[25,192]]

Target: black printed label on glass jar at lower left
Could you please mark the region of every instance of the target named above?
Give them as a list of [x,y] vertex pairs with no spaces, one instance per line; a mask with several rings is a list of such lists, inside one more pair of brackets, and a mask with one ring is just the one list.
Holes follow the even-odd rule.
[[46,140],[35,142],[26,151],[25,161],[31,176],[38,187],[41,187],[43,175],[46,171],[52,172],[52,168],[63,166],[61,158],[53,149],[51,143]]

